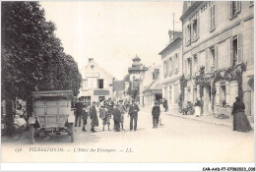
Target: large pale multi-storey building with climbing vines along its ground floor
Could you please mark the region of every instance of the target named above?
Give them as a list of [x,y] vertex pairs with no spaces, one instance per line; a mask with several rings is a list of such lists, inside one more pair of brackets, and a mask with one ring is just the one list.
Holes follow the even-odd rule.
[[[180,20],[183,73],[187,80],[184,101],[195,102],[196,97],[201,98],[204,114],[230,115],[235,96],[242,92],[245,113],[253,115],[253,6],[253,1],[183,3]],[[242,80],[238,81],[239,73]],[[200,76],[203,82],[198,80]]]

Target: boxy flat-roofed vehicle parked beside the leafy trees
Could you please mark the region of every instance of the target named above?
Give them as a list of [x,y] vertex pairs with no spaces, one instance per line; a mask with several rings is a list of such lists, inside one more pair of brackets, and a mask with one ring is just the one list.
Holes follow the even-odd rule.
[[68,133],[74,142],[75,115],[71,108],[72,90],[32,92],[32,117],[29,119],[31,141],[34,136]]

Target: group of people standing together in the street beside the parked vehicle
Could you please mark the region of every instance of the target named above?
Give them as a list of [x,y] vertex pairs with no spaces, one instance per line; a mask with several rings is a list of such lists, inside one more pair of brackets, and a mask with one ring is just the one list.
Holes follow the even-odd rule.
[[124,114],[128,113],[130,117],[130,131],[137,130],[138,112],[140,111],[139,106],[135,103],[135,100],[118,100],[114,101],[111,98],[107,100],[101,100],[100,102],[93,102],[91,106],[85,105],[81,98],[75,104],[76,108],[76,121],[75,127],[81,127],[81,121],[83,119],[83,129],[86,132],[86,125],[88,117],[91,117],[92,132],[96,132],[95,127],[98,126],[97,113],[99,113],[99,118],[102,120],[102,131],[105,130],[107,126],[108,131],[110,131],[110,119],[113,119],[114,131],[120,132],[124,130]]

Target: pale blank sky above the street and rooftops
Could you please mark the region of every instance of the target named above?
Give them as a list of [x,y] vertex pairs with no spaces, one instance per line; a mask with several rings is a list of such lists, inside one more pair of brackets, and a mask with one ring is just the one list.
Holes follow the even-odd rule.
[[160,64],[168,30],[181,31],[182,1],[175,2],[40,2],[65,53],[82,69],[89,58],[117,80],[128,74],[136,54],[150,67]]

